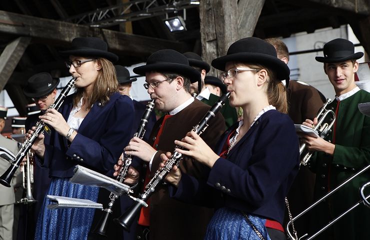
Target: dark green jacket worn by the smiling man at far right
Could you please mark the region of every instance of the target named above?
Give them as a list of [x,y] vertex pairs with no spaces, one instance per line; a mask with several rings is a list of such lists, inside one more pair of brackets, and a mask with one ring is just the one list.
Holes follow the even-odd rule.
[[[315,199],[370,164],[370,117],[358,110],[357,104],[362,102],[370,102],[370,93],[364,90],[359,90],[339,102],[334,126],[335,139],[333,133],[327,138],[335,144],[334,154],[330,156],[318,152],[316,161],[313,161],[316,172]],[[334,100],[329,106],[335,111],[337,103],[337,100]],[[321,203],[315,210],[313,225],[318,227],[324,222],[327,223],[328,219],[336,217],[352,206],[360,199],[359,187],[368,181],[370,171],[362,173]],[[361,204],[320,236],[322,239],[330,239],[328,234],[333,234],[335,239],[370,239],[370,231],[367,228],[369,226],[370,209]]]

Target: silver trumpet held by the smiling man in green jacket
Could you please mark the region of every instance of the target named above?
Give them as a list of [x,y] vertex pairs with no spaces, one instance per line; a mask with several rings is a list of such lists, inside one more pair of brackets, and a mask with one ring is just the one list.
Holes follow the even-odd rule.
[[[313,130],[315,130],[321,138],[325,138],[331,132],[331,127],[336,119],[335,112],[332,109],[327,109],[327,105],[330,102],[331,99],[327,98],[325,104],[321,107],[320,111],[316,116],[317,124],[313,127]],[[301,156],[300,164],[304,166],[308,164],[308,161],[312,156],[312,151],[308,151],[302,157],[302,153],[305,151],[305,148],[306,143],[302,143],[299,145],[299,154]]]

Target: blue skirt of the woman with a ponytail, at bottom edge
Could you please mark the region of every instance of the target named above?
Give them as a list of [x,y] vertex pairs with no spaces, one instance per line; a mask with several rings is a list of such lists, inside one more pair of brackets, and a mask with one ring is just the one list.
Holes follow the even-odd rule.
[[[264,223],[266,219],[248,214],[250,221],[262,234],[264,239],[270,240]],[[210,222],[204,239],[206,240],[259,240],[253,228],[246,222],[240,211],[223,207],[218,209]]]

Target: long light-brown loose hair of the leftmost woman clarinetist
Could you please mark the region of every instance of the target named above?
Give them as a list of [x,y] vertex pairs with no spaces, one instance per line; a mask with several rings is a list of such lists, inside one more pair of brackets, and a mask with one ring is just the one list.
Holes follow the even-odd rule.
[[109,96],[117,91],[118,81],[113,63],[105,58],[97,58],[96,60],[100,63],[101,69],[97,73],[92,93],[85,96],[83,88],[77,88],[73,99],[74,106],[77,106],[81,97],[87,100],[87,105],[90,107],[96,101],[104,105],[109,101]]

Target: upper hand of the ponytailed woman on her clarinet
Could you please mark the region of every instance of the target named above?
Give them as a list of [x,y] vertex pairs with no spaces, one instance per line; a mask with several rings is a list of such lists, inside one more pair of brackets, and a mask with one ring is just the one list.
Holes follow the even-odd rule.
[[195,160],[212,167],[219,156],[201,139],[194,131],[189,131],[181,141],[175,140],[176,145],[182,146],[185,149],[176,148],[175,150],[181,154],[191,156]]

